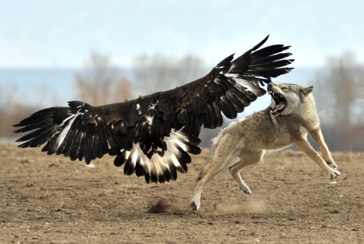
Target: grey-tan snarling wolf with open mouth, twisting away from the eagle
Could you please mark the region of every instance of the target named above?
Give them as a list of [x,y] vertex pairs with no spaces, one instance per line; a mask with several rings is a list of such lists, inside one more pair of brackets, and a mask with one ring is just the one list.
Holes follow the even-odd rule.
[[[330,180],[339,178],[341,173],[323,140],[312,90],[312,86],[269,83],[267,91],[271,96],[271,105],[232,122],[213,140],[207,164],[197,179],[191,208],[200,208],[203,186],[225,168],[229,169],[240,190],[250,195],[251,190],[242,181],[239,171],[260,162],[266,150],[279,150],[294,143]],[[321,148],[322,157],[310,146],[307,133]],[[231,164],[236,157],[238,160]]]

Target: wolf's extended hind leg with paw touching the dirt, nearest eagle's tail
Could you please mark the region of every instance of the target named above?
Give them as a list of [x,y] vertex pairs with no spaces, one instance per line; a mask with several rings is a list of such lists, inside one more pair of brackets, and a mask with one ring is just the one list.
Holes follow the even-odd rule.
[[190,206],[193,210],[200,208],[201,192],[205,184],[214,178],[218,173],[225,170],[229,166],[230,162],[240,150],[240,146],[236,142],[229,141],[229,136],[221,138],[220,142],[214,151],[212,151],[209,157],[209,169],[207,173],[197,181],[196,187],[194,188],[194,194],[190,202]]

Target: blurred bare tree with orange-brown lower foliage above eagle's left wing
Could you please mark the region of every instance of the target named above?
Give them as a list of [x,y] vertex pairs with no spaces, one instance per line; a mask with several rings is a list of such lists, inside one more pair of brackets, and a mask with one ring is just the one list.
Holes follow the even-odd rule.
[[131,84],[109,56],[91,52],[85,71],[76,74],[76,85],[82,100],[94,105],[122,102],[132,98]]

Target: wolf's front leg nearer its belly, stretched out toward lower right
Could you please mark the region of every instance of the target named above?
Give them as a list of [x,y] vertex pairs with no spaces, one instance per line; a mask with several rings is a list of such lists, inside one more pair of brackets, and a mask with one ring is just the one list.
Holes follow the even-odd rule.
[[308,143],[306,138],[303,137],[296,137],[293,138],[293,141],[295,144],[297,144],[298,148],[304,151],[310,159],[312,159],[313,162],[315,162],[323,172],[326,172],[328,174],[328,177],[330,180],[337,179],[341,176],[341,173],[337,170],[334,170],[326,164],[325,160],[322,159],[322,157],[315,151],[315,149],[312,148],[312,146]]

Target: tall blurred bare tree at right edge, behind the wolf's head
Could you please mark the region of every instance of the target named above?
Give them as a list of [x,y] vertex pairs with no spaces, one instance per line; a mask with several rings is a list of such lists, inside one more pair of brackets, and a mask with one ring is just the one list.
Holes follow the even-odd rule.
[[315,80],[317,110],[334,150],[364,150],[364,67],[354,54],[328,58]]

